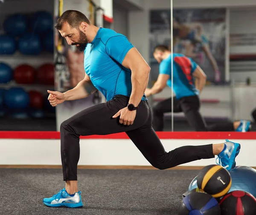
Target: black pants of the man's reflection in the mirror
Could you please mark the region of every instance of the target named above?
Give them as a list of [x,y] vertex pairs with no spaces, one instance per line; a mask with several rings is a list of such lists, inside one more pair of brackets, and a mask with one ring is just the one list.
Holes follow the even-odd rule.
[[[233,122],[223,122],[207,126],[201,113],[198,96],[187,96],[179,100],[173,98],[173,112],[183,112],[189,125],[195,131],[234,131]],[[155,131],[163,131],[163,114],[172,112],[172,98],[158,102],[153,107],[153,128]]]

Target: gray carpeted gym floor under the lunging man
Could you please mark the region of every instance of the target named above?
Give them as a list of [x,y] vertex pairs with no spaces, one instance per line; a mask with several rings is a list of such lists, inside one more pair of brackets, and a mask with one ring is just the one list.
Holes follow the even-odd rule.
[[0,169],[3,215],[177,215],[194,170],[79,170],[83,208],[43,204],[64,187],[60,169]]

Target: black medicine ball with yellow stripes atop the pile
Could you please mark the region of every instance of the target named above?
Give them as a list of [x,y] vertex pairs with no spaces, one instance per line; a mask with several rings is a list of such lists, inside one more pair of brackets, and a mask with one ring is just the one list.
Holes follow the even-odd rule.
[[231,184],[230,173],[215,164],[204,167],[197,178],[199,190],[209,193],[214,198],[224,196],[230,190]]

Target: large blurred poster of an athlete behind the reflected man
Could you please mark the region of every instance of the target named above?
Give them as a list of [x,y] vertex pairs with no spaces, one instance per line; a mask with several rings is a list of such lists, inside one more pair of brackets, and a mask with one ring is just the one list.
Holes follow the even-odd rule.
[[[173,51],[198,63],[209,82],[222,83],[226,79],[226,17],[225,8],[173,9]],[[170,11],[151,11],[151,52],[156,44],[170,47],[168,33],[170,36],[171,32],[167,20],[171,20]],[[151,63],[154,66],[156,62],[151,59]]]

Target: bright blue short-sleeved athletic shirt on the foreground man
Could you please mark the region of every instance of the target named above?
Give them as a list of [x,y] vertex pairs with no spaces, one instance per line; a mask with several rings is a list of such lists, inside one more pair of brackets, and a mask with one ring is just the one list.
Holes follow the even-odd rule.
[[[108,28],[99,28],[84,50],[84,70],[107,101],[116,95],[131,96],[131,70],[122,66],[134,46],[127,37]],[[147,100],[143,95],[142,100]]]

